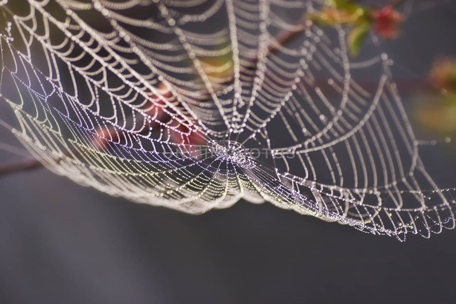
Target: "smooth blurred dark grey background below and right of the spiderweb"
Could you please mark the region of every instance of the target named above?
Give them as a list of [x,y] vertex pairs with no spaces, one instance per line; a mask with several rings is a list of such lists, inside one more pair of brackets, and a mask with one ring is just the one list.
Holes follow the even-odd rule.
[[[379,46],[415,134],[436,141],[420,153],[441,187],[456,185],[456,123],[423,83],[456,57],[455,28],[454,4],[421,1]],[[0,141],[1,162],[24,157],[4,151],[20,146],[4,129]],[[0,177],[0,303],[454,303],[455,273],[454,230],[400,243],[269,203],[192,216],[45,169]]]

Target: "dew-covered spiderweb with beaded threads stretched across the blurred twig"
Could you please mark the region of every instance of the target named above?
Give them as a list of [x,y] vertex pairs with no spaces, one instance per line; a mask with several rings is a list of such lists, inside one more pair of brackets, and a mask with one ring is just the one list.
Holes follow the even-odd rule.
[[303,19],[321,5],[1,0],[9,128],[49,170],[131,201],[269,201],[400,239],[453,228],[391,62],[349,58],[346,29]]

